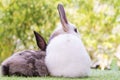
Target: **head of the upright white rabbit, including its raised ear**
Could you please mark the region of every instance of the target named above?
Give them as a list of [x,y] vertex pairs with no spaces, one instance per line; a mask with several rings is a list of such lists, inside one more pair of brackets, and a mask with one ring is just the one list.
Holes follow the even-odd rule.
[[50,40],[59,34],[66,34],[66,33],[79,36],[79,32],[75,27],[75,25],[68,22],[63,5],[58,4],[57,9],[59,12],[61,24],[59,24],[58,27],[55,29],[55,31],[52,33],[52,35],[50,36]]

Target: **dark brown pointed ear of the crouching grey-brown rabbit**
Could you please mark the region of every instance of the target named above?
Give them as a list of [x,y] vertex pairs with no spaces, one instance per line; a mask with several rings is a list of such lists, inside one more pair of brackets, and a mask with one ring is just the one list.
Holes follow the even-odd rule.
[[47,44],[46,44],[44,38],[43,38],[39,33],[37,33],[36,31],[34,31],[34,35],[35,35],[35,38],[36,38],[36,42],[37,42],[38,47],[39,47],[42,51],[45,51]]

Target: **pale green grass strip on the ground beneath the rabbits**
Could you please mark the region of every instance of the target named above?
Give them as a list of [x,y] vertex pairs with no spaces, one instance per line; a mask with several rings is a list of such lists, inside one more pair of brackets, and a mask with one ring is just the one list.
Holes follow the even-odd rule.
[[0,80],[119,80],[118,70],[91,70],[91,76],[87,78],[63,78],[63,77],[0,77]]

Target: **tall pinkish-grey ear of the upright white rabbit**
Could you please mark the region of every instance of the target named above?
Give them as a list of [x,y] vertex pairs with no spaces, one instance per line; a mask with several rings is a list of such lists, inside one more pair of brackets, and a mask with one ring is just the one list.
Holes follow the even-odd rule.
[[67,21],[67,18],[66,18],[66,14],[65,14],[65,10],[64,10],[64,7],[62,4],[58,4],[58,12],[59,12],[59,16],[60,16],[60,20],[61,20],[61,24],[63,26],[63,30],[65,32],[68,31],[69,27],[67,26],[68,25],[68,21]]

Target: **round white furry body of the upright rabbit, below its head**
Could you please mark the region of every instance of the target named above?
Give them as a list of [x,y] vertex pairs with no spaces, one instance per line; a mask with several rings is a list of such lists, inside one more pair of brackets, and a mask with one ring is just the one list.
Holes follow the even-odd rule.
[[45,63],[52,76],[85,77],[90,73],[90,57],[73,34],[60,34],[50,41]]

